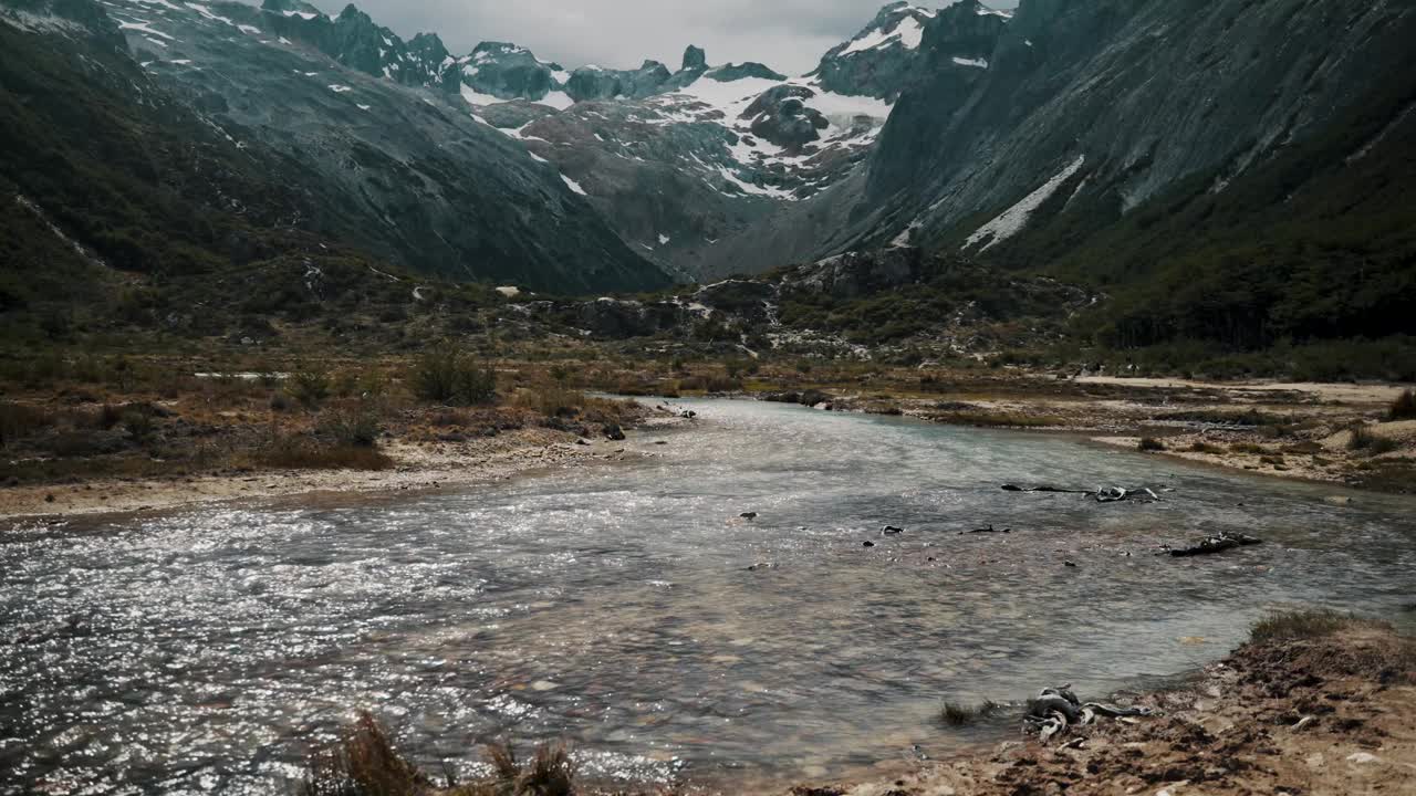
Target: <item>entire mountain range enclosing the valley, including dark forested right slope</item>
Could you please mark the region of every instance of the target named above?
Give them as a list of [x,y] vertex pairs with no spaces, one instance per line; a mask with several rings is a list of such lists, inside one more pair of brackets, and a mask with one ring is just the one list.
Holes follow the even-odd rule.
[[401,268],[588,292],[913,246],[1104,292],[1075,326],[1116,344],[1406,329],[1409,4],[892,3],[800,76],[457,55],[297,0],[102,8],[142,92],[320,197],[295,229]]

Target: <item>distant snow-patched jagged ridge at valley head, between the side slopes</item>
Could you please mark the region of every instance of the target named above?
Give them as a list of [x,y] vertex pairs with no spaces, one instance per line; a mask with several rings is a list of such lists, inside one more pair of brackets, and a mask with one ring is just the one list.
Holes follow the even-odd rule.
[[[153,0],[110,7],[135,14],[136,24],[195,13],[426,91],[558,169],[639,256],[684,280],[741,269],[738,258],[719,254],[719,242],[860,169],[902,91],[893,84],[918,76],[920,30],[937,16],[892,3],[810,75],[790,78],[759,62],[712,65],[697,47],[677,71],[656,61],[571,71],[513,42],[483,42],[455,57],[438,35],[404,41],[354,6],[337,16],[299,0],[266,0],[261,8],[221,1],[169,8]],[[154,68],[173,61],[154,44],[160,37],[130,28],[129,38]]]

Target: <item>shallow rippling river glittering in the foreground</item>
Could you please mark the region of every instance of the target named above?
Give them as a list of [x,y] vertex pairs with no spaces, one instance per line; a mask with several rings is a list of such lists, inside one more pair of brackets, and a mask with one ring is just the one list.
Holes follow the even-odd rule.
[[[287,790],[358,708],[425,762],[564,737],[598,776],[834,776],[977,739],[935,721],[944,698],[1102,697],[1222,657],[1274,606],[1409,622],[1416,602],[1410,500],[690,404],[705,422],[640,435],[646,462],[0,530],[0,793]],[[959,535],[988,524],[1012,533]],[[1267,544],[1153,555],[1223,528]]]

